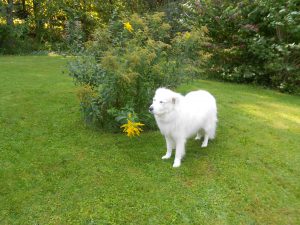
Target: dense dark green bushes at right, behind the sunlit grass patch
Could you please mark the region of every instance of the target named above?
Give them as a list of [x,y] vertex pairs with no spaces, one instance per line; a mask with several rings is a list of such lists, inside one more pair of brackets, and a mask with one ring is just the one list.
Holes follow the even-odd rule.
[[300,93],[299,1],[189,1],[190,24],[207,26],[209,74]]

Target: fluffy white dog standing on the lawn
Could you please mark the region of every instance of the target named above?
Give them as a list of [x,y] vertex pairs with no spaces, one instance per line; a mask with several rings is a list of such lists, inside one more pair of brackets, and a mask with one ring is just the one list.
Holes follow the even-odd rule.
[[166,88],[155,92],[149,111],[154,114],[160,132],[165,136],[167,153],[162,159],[172,155],[176,149],[173,167],[179,167],[185,154],[185,142],[196,135],[206,147],[209,139],[215,137],[217,126],[217,105],[215,98],[207,91],[193,91],[183,96]]

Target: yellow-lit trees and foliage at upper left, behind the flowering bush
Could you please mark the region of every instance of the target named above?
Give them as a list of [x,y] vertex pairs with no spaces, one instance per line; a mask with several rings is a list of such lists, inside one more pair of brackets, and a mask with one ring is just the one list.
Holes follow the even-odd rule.
[[[114,11],[142,13],[168,0],[0,0],[0,53],[66,51],[72,43],[70,27],[80,26],[86,41]],[[73,45],[72,45],[73,46]]]

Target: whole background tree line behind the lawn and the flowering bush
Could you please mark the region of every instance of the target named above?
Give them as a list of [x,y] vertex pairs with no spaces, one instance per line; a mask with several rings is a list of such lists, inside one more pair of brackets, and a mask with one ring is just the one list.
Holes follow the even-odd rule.
[[298,0],[0,0],[0,53],[80,52],[117,17],[159,11],[170,40],[207,28],[201,76],[299,93],[299,9]]

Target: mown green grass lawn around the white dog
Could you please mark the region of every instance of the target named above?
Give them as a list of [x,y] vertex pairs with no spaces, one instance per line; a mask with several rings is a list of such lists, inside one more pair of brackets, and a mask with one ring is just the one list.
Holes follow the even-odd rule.
[[299,97],[181,86],[214,94],[219,123],[173,169],[158,131],[84,126],[66,61],[0,57],[0,224],[300,224]]

